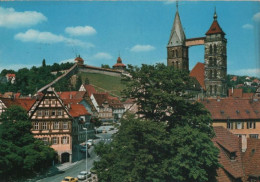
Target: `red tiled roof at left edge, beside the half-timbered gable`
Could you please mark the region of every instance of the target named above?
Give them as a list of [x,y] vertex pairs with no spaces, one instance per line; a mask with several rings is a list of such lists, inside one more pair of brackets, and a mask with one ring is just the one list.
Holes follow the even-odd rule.
[[5,104],[5,106],[8,108],[12,105],[21,106],[26,111],[29,111],[32,107],[32,105],[35,103],[36,99],[11,99],[11,98],[1,98],[2,102]]

